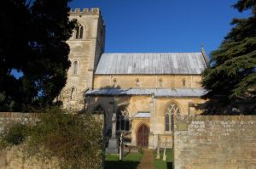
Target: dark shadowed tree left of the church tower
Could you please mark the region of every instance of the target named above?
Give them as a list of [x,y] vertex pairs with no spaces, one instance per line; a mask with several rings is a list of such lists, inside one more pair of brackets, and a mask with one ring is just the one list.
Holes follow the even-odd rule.
[[[1,111],[51,105],[66,83],[75,20],[70,0],[4,0],[0,10]],[[12,71],[19,71],[17,79]]]

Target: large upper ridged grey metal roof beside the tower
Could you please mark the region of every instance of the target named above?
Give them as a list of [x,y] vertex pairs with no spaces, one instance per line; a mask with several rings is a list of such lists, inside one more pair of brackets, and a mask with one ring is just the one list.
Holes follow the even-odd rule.
[[207,67],[201,53],[102,54],[96,75],[201,74]]

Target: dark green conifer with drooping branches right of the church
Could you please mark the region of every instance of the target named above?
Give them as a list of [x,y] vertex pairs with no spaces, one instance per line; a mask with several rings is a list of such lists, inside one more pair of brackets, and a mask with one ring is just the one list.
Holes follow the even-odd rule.
[[247,19],[235,25],[220,47],[211,54],[210,67],[203,72],[202,86],[208,90],[207,113],[256,113],[256,2],[239,0],[240,12],[252,9]]

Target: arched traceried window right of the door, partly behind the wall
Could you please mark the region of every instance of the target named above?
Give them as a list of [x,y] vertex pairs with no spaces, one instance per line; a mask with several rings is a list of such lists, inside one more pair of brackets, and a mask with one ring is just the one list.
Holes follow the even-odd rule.
[[180,109],[177,104],[169,104],[166,108],[166,132],[171,132],[174,129],[174,116],[180,114]]

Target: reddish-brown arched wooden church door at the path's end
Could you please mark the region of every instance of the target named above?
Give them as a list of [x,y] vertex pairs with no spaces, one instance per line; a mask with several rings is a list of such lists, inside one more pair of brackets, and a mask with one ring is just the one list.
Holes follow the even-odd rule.
[[137,146],[148,147],[149,128],[142,124],[137,130]]

